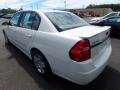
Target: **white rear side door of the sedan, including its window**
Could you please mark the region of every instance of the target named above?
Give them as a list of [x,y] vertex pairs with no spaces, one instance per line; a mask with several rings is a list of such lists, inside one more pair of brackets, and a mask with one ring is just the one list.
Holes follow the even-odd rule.
[[19,23],[19,30],[16,33],[17,43],[25,52],[29,52],[29,48],[33,42],[34,36],[40,24],[40,17],[35,12],[24,12]]

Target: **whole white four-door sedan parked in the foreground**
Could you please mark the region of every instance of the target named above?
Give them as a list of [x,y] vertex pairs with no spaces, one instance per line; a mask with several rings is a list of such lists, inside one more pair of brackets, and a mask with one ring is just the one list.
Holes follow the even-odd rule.
[[27,55],[43,76],[54,73],[79,85],[93,81],[111,55],[110,27],[92,26],[57,10],[30,10],[3,23],[5,43]]

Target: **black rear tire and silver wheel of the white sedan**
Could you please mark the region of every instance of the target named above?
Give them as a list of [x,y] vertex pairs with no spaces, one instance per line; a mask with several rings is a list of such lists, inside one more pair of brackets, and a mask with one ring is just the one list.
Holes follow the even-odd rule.
[[46,77],[52,73],[47,59],[44,57],[44,55],[40,51],[38,50],[33,51],[32,60],[35,68],[42,76]]

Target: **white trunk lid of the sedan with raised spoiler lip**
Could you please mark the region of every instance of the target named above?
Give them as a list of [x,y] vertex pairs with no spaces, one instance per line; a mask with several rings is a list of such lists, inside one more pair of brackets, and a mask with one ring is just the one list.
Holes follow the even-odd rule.
[[99,26],[83,26],[68,31],[61,32],[62,34],[79,37],[81,39],[88,39],[91,46],[91,57],[95,57],[107,45],[107,39],[110,34],[110,27]]

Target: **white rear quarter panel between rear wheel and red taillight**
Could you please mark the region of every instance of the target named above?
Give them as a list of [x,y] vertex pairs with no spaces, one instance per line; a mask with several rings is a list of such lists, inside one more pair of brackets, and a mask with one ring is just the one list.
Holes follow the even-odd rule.
[[38,31],[32,47],[44,54],[53,72],[64,73],[69,69],[67,65],[71,62],[69,51],[79,40],[59,33]]

